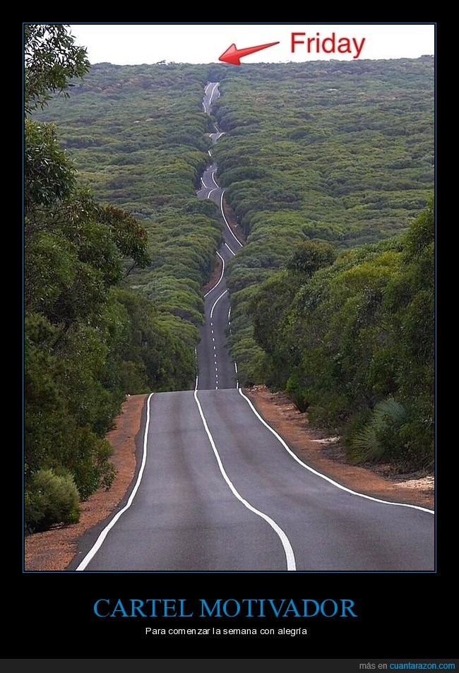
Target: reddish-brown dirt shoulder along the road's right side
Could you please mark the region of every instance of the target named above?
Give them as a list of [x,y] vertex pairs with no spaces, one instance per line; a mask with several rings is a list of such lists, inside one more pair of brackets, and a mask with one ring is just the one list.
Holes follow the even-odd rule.
[[395,474],[390,465],[352,465],[347,461],[339,438],[327,437],[308,427],[307,415],[299,412],[287,395],[272,393],[265,386],[255,386],[244,393],[298,457],[314,469],[366,495],[434,508],[432,475],[420,472]]

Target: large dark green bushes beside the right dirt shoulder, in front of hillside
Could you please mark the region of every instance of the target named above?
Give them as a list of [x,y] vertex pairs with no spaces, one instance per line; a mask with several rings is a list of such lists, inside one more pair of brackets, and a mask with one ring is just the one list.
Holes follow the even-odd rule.
[[345,434],[355,460],[431,466],[432,206],[400,237],[343,251],[309,278],[290,275],[273,275],[250,306],[264,380]]

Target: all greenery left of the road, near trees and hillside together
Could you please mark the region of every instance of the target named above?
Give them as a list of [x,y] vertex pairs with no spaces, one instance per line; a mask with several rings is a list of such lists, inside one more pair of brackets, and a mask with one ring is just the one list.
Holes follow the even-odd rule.
[[104,437],[126,394],[196,376],[201,287],[221,237],[215,206],[195,193],[210,145],[205,75],[90,69],[63,25],[26,28],[30,531],[78,520],[80,499],[110,486]]

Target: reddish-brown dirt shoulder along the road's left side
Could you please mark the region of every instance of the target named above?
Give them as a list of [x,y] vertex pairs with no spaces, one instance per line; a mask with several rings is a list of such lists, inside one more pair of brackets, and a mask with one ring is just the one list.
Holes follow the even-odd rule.
[[124,498],[136,471],[136,435],[141,427],[147,395],[131,395],[114,420],[106,439],[112,444],[112,463],[117,469],[112,488],[99,489],[81,503],[79,523],[54,527],[25,538],[25,571],[65,570],[75,556],[78,540],[93,525],[109,516]]

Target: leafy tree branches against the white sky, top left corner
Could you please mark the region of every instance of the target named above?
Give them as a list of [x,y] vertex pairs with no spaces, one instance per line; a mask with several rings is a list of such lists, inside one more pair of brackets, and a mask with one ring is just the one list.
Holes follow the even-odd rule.
[[25,114],[43,109],[49,92],[64,92],[72,78],[81,78],[90,68],[86,49],[74,44],[65,23],[26,23],[24,26]]

